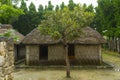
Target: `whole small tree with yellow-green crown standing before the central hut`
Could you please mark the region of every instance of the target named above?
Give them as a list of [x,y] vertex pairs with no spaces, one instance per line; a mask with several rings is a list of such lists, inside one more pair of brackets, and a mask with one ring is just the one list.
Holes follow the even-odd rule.
[[66,56],[66,76],[70,77],[70,63],[68,58],[68,42],[81,34],[81,28],[92,21],[94,14],[85,12],[81,6],[76,6],[72,11],[68,7],[46,15],[46,20],[39,25],[43,35],[53,39],[60,39],[63,43]]

